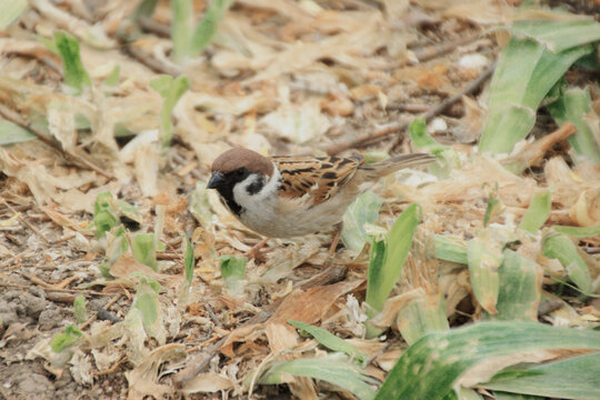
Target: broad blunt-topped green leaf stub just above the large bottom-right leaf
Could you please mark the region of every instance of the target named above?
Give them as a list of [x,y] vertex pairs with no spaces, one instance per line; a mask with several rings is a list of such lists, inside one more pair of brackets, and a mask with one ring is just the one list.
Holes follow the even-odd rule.
[[499,269],[498,313],[491,319],[537,321],[543,273],[533,261],[506,249]]

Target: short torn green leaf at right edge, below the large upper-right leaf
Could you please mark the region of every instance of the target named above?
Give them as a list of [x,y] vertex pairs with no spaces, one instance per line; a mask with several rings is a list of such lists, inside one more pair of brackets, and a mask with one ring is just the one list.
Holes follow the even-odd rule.
[[593,124],[598,122],[590,122],[587,119],[591,111],[590,89],[569,89],[547,108],[558,124],[571,122],[576,126],[577,132],[567,139],[573,149],[590,160],[600,162],[600,143],[593,133],[597,130]]

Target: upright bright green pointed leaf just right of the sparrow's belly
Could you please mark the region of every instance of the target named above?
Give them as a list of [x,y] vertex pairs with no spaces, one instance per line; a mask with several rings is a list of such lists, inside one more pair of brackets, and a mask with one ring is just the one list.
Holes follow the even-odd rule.
[[420,221],[421,208],[412,203],[398,217],[384,244],[376,242],[371,247],[367,281],[367,303],[372,308],[367,312],[370,317],[383,309],[386,299],[400,278],[402,266],[412,246],[414,230]]

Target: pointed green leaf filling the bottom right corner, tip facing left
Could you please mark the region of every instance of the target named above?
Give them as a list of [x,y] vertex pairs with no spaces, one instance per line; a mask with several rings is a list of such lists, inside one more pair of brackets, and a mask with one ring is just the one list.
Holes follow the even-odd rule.
[[600,353],[542,366],[513,367],[509,372],[496,374],[482,387],[544,398],[597,400],[600,390]]

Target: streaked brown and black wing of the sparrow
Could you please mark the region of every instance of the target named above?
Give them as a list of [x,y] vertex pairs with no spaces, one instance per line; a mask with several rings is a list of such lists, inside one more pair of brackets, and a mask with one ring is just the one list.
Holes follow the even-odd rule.
[[301,198],[309,196],[313,204],[319,204],[343,187],[364,163],[362,156],[341,157],[273,157],[281,172],[280,196]]

